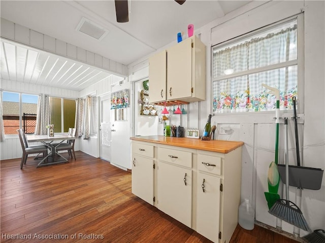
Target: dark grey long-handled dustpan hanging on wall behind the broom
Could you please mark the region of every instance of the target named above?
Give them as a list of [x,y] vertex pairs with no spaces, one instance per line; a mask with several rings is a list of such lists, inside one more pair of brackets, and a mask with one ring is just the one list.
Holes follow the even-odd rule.
[[[298,116],[296,96],[293,97],[293,109],[295,120],[295,138],[296,138],[296,154],[297,166],[289,166],[289,185],[295,186],[298,189],[319,190],[323,177],[323,170],[311,167],[300,166],[300,152],[299,152],[299,136],[298,136]],[[286,174],[283,165],[278,165],[278,170],[282,181],[286,181]]]

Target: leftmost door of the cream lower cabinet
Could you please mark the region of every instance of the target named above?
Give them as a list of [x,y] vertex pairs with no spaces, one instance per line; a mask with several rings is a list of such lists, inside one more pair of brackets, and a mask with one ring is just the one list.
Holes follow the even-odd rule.
[[132,193],[153,205],[153,159],[133,156]]

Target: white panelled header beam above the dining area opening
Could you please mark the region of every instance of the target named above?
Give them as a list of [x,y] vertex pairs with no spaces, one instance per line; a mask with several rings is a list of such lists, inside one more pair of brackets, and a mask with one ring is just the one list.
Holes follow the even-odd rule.
[[99,54],[60,41],[46,34],[1,18],[1,37],[30,47],[77,60],[91,66],[105,69],[111,73],[127,76],[125,65]]

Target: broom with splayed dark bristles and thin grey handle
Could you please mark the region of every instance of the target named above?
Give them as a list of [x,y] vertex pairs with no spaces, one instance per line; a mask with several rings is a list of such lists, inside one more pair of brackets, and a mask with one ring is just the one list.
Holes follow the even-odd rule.
[[298,228],[311,232],[303,213],[296,204],[289,200],[289,162],[288,162],[288,118],[284,118],[285,128],[285,199],[275,202],[269,213],[275,217],[293,224]]

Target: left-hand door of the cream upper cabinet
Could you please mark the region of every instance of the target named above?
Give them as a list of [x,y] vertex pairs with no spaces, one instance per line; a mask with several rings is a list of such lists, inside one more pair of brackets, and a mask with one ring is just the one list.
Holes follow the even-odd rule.
[[149,58],[149,102],[166,100],[167,56],[166,50]]

